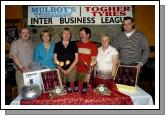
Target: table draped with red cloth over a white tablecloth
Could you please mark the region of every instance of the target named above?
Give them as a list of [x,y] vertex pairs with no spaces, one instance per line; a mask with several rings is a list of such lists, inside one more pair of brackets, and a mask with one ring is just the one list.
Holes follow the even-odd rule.
[[151,95],[138,86],[135,93],[117,90],[112,90],[111,93],[110,96],[101,95],[88,88],[86,94],[79,91],[54,98],[50,98],[49,93],[43,93],[34,100],[23,100],[18,95],[10,105],[153,105]]

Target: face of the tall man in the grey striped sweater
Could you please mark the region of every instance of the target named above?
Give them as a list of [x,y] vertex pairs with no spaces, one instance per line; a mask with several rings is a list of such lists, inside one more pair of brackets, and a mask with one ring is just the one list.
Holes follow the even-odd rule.
[[126,32],[131,32],[134,27],[134,22],[131,19],[124,20],[123,27]]

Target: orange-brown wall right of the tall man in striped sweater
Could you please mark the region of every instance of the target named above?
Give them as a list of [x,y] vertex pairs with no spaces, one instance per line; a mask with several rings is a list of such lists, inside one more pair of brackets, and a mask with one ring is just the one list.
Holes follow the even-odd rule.
[[145,33],[149,46],[155,46],[155,6],[135,6],[135,27]]

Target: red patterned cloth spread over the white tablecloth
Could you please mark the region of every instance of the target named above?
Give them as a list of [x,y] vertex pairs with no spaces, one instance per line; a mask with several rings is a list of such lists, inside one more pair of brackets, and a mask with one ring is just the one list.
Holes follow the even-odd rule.
[[[86,94],[79,92],[68,93],[65,96],[49,97],[49,93],[41,94],[34,100],[21,100],[21,105],[131,105],[133,104],[131,98],[116,88],[115,82],[109,83],[111,88],[111,96],[101,95],[93,90],[91,85],[88,85]],[[72,88],[73,88],[72,84]],[[79,89],[82,84],[79,83]]]

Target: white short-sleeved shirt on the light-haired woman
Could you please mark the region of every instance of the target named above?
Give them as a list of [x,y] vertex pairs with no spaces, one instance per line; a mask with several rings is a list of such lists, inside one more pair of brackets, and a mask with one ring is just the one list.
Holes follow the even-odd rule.
[[109,46],[105,51],[103,51],[102,46],[98,48],[97,70],[112,71],[112,56],[117,54],[118,51],[112,46]]

